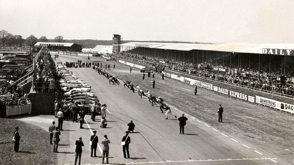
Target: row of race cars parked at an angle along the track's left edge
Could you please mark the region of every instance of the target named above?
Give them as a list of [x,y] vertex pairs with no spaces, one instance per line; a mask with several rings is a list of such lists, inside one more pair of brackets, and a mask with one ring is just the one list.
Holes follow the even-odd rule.
[[[57,64],[56,68],[58,73],[61,74],[61,79],[58,82],[64,92],[65,100],[77,102],[79,107],[84,105],[86,114],[90,115],[91,105],[95,101],[99,102],[97,96],[91,92],[91,87],[63,64]],[[99,114],[101,111],[96,113]]]

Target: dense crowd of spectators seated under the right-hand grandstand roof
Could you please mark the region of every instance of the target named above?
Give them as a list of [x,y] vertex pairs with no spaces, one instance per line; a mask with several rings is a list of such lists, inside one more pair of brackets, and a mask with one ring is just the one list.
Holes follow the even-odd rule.
[[[282,56],[272,58],[271,61],[268,57],[260,60],[258,59],[258,56],[249,57],[246,55],[241,57],[242,61],[240,57],[237,56],[233,58],[230,57],[232,59],[228,58],[229,56],[217,57],[217,60],[221,61],[221,64],[215,62],[217,60],[214,59],[192,64],[183,61],[168,60],[160,57],[151,57],[126,52],[120,53],[119,55],[113,54],[112,56],[151,65],[155,68],[159,68],[159,70],[168,69],[248,88],[256,88],[292,96],[294,94],[294,71],[291,69],[294,63],[286,66],[285,75],[282,74],[283,72],[281,72],[281,66],[279,65],[281,64]],[[248,67],[249,60],[251,64],[250,68]],[[271,63],[271,66],[269,63]],[[213,67],[226,70],[225,72],[215,71]],[[269,72],[270,69],[271,72]]]

